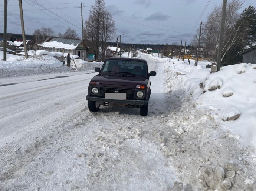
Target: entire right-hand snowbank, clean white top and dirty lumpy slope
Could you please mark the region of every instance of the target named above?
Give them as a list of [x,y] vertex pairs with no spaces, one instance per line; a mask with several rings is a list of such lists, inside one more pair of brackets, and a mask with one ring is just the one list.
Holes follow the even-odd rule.
[[161,129],[163,151],[182,177],[173,189],[255,190],[256,67],[242,63],[210,74],[209,62],[165,64],[174,110],[163,120],[170,127]]

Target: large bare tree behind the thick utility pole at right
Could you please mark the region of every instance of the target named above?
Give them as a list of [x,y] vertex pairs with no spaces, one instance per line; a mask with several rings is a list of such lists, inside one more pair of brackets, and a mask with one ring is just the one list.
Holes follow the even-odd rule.
[[[239,22],[238,11],[242,6],[240,0],[231,0],[227,3],[225,31],[223,38],[223,48],[221,50],[221,61],[227,51],[236,43],[243,39],[242,22]],[[204,47],[205,54],[217,55],[219,45],[219,31],[221,23],[221,5],[215,6],[207,17],[206,23],[202,26],[200,45]],[[197,35],[193,42],[198,43]]]

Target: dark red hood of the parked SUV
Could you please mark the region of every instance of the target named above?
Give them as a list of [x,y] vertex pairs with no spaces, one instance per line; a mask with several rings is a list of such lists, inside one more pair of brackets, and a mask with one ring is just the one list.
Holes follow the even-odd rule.
[[98,74],[94,76],[91,81],[99,82],[102,85],[122,85],[122,86],[136,86],[145,85],[147,86],[148,79],[145,76],[134,76],[134,75],[115,75],[115,74]]

